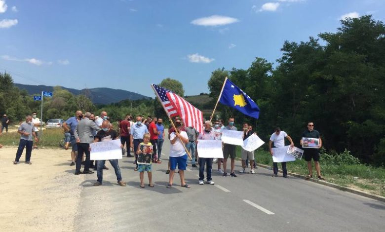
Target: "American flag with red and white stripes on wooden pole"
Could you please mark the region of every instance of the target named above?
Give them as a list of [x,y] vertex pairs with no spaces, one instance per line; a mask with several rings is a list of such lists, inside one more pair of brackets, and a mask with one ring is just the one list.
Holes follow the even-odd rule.
[[152,84],[152,86],[168,116],[180,116],[185,126],[192,126],[199,133],[203,132],[203,114],[200,110],[172,91],[156,84]]

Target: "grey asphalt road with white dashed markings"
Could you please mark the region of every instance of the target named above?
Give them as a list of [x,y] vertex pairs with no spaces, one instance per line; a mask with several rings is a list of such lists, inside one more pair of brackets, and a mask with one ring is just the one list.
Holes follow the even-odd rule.
[[[126,187],[116,184],[115,172],[105,170],[103,185],[94,187],[95,174],[85,175],[76,231],[164,232],[384,232],[385,203],[290,177],[272,178],[272,171],[223,177],[216,172],[214,186],[198,185],[198,170],[185,171],[191,189],[180,187],[174,176],[167,189],[168,151],[164,142],[163,163],[153,164],[154,188],[139,187],[133,158],[119,160]],[[230,160],[228,161],[230,167]],[[236,162],[236,172],[240,170]],[[322,167],[322,166],[321,166]]]

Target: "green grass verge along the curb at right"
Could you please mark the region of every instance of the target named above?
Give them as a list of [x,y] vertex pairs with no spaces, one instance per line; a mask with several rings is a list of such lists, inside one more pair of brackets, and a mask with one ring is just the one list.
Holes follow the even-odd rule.
[[[263,149],[254,152],[257,163],[272,167],[271,155]],[[236,156],[240,158],[241,149],[237,146]],[[366,164],[334,164],[321,155],[321,174],[326,181],[344,187],[355,188],[365,192],[385,196],[385,169]],[[280,168],[280,165],[278,164]],[[301,175],[308,174],[307,162],[304,159],[287,162],[287,171]],[[313,176],[315,176],[313,167]]]

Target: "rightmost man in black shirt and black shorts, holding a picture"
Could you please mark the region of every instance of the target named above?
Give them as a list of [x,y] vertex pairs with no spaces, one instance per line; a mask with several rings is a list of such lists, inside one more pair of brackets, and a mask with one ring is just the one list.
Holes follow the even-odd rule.
[[[314,160],[314,166],[315,170],[317,171],[317,177],[320,180],[325,180],[324,177],[321,176],[321,168],[319,167],[319,149],[322,147],[322,140],[319,135],[319,132],[317,130],[314,130],[314,123],[308,122],[308,130],[305,130],[304,133],[302,133],[302,138],[313,138],[313,139],[319,139],[319,144],[316,148],[304,148],[304,156],[305,160],[308,161],[308,171],[309,174],[306,176],[306,179],[313,177],[313,169],[311,166],[311,159]],[[302,139],[300,141],[302,145]]]

